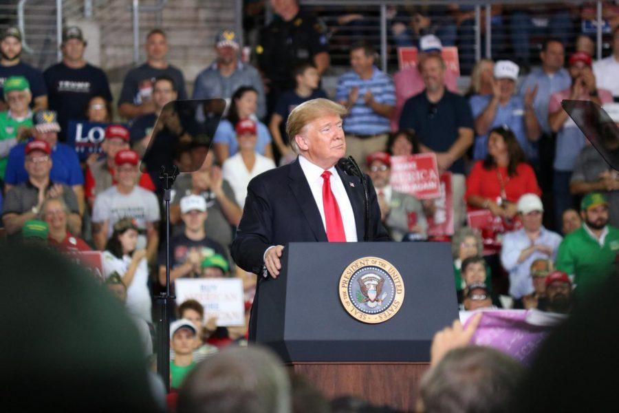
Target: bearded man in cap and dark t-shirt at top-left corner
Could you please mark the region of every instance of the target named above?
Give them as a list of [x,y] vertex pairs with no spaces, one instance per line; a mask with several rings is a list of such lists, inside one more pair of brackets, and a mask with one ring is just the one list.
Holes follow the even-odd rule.
[[21,61],[21,32],[18,28],[8,28],[0,41],[0,109],[6,110],[2,87],[10,76],[23,76],[30,84],[34,110],[47,108],[47,87],[43,74],[34,67]]

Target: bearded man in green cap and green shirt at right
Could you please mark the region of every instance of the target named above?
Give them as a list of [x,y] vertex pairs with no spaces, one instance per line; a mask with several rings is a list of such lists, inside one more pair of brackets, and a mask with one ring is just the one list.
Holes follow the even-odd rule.
[[609,204],[601,193],[589,193],[580,202],[583,226],[567,235],[558,248],[556,268],[574,279],[581,297],[613,273],[619,253],[619,229],[608,225]]

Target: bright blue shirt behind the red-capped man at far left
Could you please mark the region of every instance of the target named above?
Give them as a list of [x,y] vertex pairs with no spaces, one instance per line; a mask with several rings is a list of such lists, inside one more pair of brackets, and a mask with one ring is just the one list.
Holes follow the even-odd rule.
[[[28,180],[28,172],[23,166],[24,162],[25,143],[20,143],[9,152],[4,175],[6,183],[17,185]],[[84,175],[75,149],[64,143],[56,143],[56,147],[52,149],[52,162],[50,180],[67,184],[69,187],[84,184]]]

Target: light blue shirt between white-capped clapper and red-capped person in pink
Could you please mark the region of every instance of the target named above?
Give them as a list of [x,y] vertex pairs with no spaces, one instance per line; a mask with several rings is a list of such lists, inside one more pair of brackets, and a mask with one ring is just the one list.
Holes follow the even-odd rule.
[[519,95],[524,98],[527,89],[534,89],[537,85],[537,94],[533,100],[533,110],[542,130],[550,134],[550,124],[548,123],[548,103],[550,96],[561,90],[568,89],[572,85],[572,78],[569,77],[567,70],[561,67],[554,74],[547,74],[541,67],[537,67],[528,74],[520,85]]

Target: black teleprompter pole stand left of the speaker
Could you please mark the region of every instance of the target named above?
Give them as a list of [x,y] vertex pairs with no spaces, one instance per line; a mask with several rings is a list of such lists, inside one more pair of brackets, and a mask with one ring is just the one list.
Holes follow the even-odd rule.
[[[174,180],[178,176],[178,167],[174,165],[172,171],[161,167],[159,180],[164,188],[164,203],[166,206],[166,290],[156,297],[159,310],[157,329],[157,371],[166,385],[166,391],[170,392],[170,319],[169,308],[171,301],[175,299],[170,294],[170,198]],[[170,306],[169,306],[170,305]]]

